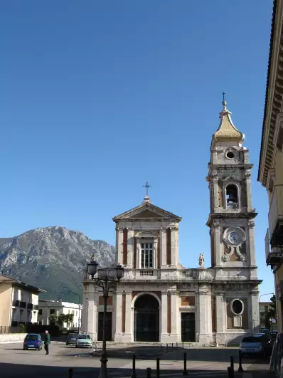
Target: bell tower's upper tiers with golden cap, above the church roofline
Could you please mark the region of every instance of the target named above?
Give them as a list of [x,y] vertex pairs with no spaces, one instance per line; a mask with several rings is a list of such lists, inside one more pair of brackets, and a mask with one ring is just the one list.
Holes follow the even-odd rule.
[[[220,125],[210,146],[208,177],[210,190],[211,266],[246,268],[247,279],[257,278],[255,263],[255,209],[252,207],[249,151],[245,135],[231,120],[223,94]],[[252,277],[253,275],[253,277]]]

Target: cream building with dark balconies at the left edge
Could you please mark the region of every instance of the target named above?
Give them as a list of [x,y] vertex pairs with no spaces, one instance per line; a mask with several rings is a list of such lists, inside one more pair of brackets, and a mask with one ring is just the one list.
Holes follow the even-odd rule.
[[36,324],[39,293],[45,291],[0,275],[0,326]]

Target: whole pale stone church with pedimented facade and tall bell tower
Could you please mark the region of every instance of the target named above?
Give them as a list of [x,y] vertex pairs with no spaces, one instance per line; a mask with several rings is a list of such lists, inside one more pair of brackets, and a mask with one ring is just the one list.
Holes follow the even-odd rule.
[[[229,345],[258,332],[259,288],[255,261],[249,151],[223,99],[220,125],[210,145],[206,181],[210,209],[211,266],[185,268],[179,262],[181,217],[151,202],[114,216],[117,263],[124,278],[107,302],[107,340],[198,342]],[[82,331],[102,340],[103,297],[86,276]]]

